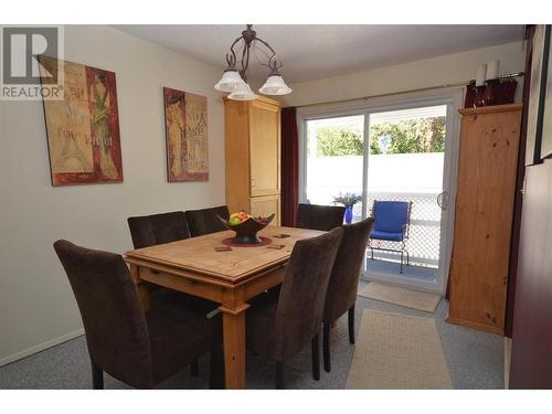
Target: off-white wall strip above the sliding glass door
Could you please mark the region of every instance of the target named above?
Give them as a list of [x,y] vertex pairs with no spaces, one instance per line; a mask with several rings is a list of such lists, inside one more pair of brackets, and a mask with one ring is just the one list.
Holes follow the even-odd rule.
[[[500,74],[524,68],[522,42],[478,49],[349,75],[291,84],[293,93],[283,97],[284,106],[299,106],[379,94],[431,87],[475,78],[482,63],[500,60]],[[285,76],[285,72],[284,72]],[[518,84],[518,96],[521,82]]]

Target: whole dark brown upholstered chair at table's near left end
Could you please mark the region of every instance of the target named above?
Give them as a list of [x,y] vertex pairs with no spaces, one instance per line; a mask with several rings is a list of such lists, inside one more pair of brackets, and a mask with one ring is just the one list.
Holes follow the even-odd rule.
[[[211,385],[221,381],[221,319],[177,306],[145,312],[123,257],[54,243],[73,288],[92,360],[93,386],[104,371],[134,388],[152,388],[211,351]],[[215,378],[216,376],[216,378]],[[220,384],[220,382],[219,382]]]

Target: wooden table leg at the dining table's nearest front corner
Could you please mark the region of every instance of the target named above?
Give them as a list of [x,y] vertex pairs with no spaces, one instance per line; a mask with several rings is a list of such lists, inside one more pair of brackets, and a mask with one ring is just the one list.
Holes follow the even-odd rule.
[[226,389],[245,389],[245,309],[221,306],[223,312],[224,367]]

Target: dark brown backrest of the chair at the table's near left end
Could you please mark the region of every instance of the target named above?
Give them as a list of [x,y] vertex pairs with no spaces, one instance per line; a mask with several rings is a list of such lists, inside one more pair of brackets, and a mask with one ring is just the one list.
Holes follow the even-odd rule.
[[151,348],[144,309],[118,254],[54,243],[83,319],[91,358],[112,376],[151,384]]

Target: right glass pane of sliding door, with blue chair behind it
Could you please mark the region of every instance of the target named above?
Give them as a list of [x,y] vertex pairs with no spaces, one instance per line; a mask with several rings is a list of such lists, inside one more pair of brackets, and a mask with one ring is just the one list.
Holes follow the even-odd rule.
[[368,215],[373,215],[374,202],[382,201],[408,210],[401,241],[386,240],[386,234],[372,237],[365,268],[370,278],[438,282],[446,114],[447,106],[438,105],[369,115]]

